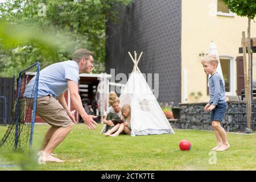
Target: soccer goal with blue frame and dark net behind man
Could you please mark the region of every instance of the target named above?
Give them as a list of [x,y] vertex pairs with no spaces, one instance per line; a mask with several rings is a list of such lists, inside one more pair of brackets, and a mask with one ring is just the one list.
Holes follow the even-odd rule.
[[40,64],[19,73],[11,123],[0,142],[1,151],[28,152],[32,146]]

